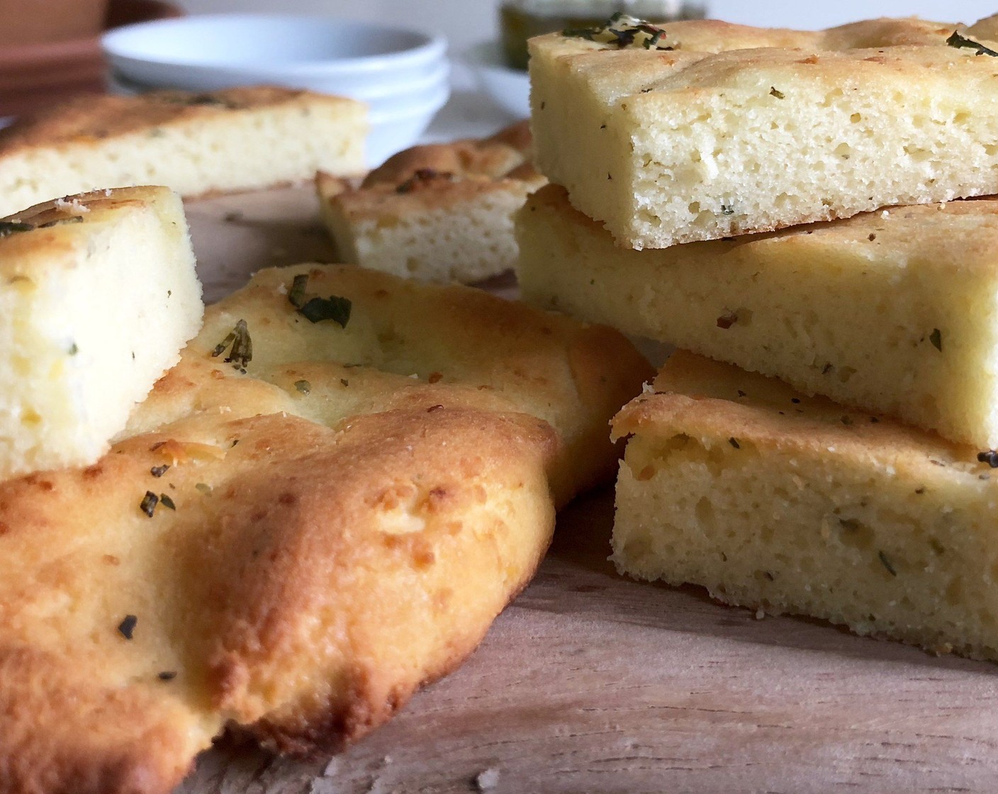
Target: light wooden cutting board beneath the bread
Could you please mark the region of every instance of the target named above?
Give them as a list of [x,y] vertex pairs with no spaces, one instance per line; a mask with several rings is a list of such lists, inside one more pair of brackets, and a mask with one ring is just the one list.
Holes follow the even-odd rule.
[[[308,189],[189,217],[209,300],[334,258]],[[222,744],[177,794],[998,791],[998,666],[632,581],[612,523],[610,490],[570,505],[471,659],[346,753]]]

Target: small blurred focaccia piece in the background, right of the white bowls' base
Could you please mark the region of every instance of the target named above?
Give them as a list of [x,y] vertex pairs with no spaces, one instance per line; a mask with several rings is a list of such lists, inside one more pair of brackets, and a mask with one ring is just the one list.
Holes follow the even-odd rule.
[[359,188],[326,174],[315,184],[342,262],[472,284],[513,267],[513,213],[546,181],[522,122],[483,140],[400,152]]

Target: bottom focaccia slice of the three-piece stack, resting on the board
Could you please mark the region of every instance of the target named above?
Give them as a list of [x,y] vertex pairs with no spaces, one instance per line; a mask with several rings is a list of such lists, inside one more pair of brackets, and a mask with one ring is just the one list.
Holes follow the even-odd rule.
[[998,660],[993,455],[682,352],[614,433],[622,572]]

